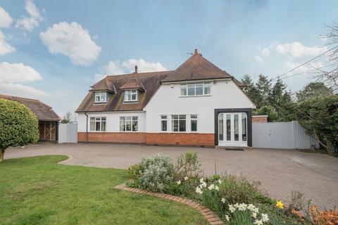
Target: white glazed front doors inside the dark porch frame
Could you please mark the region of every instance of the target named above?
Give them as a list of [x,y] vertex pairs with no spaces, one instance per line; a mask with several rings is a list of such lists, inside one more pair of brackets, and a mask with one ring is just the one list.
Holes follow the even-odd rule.
[[218,145],[247,146],[246,113],[218,114]]

